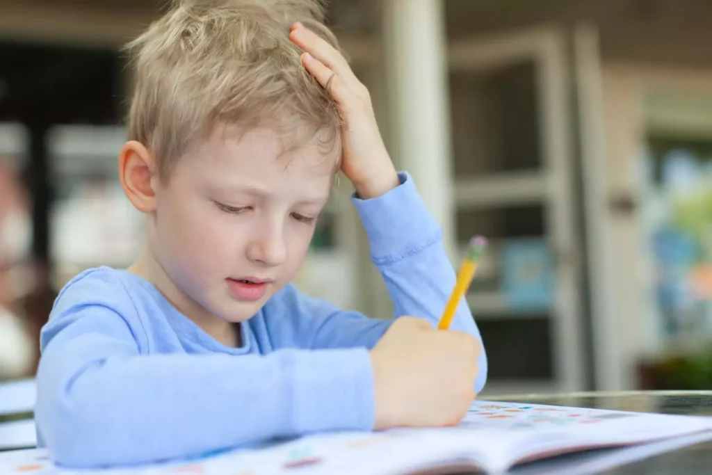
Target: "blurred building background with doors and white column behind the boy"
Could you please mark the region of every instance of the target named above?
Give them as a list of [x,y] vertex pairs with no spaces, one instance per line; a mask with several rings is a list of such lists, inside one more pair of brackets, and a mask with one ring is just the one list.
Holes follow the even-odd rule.
[[[84,268],[127,266],[122,43],[155,0],[0,0],[0,380]],[[487,393],[712,389],[712,2],[333,0],[468,295]],[[388,318],[342,180],[297,285]]]

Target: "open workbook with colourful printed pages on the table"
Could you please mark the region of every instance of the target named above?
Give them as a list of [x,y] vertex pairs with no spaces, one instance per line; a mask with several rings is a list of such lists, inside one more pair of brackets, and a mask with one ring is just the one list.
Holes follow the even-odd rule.
[[[6,452],[0,453],[0,474],[499,474],[515,466],[528,474],[536,473],[528,462],[579,454],[555,465],[577,474],[586,466],[605,469],[709,439],[712,417],[478,401],[457,427],[314,434],[201,459],[97,472],[59,469],[42,450]],[[555,466],[541,473],[552,474]]]

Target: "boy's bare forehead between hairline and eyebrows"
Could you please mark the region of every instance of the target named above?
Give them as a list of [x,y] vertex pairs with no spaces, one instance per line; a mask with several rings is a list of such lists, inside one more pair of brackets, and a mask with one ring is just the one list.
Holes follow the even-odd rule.
[[318,134],[296,140],[266,128],[223,125],[192,151],[187,165],[190,173],[226,186],[244,183],[320,199],[330,190],[339,152]]

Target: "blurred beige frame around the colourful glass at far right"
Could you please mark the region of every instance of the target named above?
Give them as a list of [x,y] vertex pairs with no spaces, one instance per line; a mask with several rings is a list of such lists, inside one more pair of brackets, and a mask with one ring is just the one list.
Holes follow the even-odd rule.
[[[645,131],[685,130],[699,136],[712,135],[712,122],[701,118],[649,116],[645,95],[650,90],[681,90],[712,94],[712,71],[684,66],[646,65],[638,63],[604,63],[601,68],[602,124],[600,140],[605,159],[597,165],[604,175],[600,206],[610,197],[629,196],[641,203],[644,184],[637,182],[630,170],[644,147]],[[691,119],[691,120],[690,120]],[[625,171],[625,172],[624,172]],[[606,283],[602,295],[607,303],[595,313],[599,328],[597,381],[602,390],[637,389],[638,365],[643,357],[664,350],[665,342],[657,328],[659,308],[654,298],[654,256],[649,244],[650,229],[644,216],[634,212],[620,216],[605,212],[597,227],[605,233],[602,239],[615,246],[602,246],[599,252],[600,281]],[[620,272],[624,268],[627,272]],[[602,300],[602,299],[600,299]]]

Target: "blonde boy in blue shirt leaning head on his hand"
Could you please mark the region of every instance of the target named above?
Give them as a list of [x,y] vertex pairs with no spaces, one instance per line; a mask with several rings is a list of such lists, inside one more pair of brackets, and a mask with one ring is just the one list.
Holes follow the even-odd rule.
[[[486,378],[480,336],[464,303],[453,331],[434,330],[455,282],[439,226],[394,169],[322,9],[183,1],[130,46],[120,181],[147,244],[129,269],[90,269],[58,296],[39,444],[59,464],[136,464],[458,422]],[[394,320],[289,283],[338,169]]]

